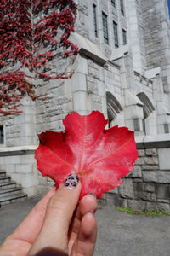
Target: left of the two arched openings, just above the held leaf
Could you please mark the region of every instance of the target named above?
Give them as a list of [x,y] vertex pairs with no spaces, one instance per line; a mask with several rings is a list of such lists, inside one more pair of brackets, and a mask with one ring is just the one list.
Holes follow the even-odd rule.
[[116,97],[111,94],[111,92],[106,92],[106,101],[107,101],[107,114],[109,119],[109,127],[111,127],[111,122],[116,118],[118,113],[121,113],[122,106],[117,101]]

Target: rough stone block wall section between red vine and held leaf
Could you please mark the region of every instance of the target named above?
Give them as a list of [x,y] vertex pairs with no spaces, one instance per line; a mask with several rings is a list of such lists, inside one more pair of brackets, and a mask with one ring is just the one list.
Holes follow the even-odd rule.
[[73,110],[72,96],[65,87],[65,83],[59,80],[38,86],[37,95],[44,96],[45,93],[47,95],[45,101],[37,100],[36,102],[37,133],[63,129],[61,119],[64,119],[65,114]]

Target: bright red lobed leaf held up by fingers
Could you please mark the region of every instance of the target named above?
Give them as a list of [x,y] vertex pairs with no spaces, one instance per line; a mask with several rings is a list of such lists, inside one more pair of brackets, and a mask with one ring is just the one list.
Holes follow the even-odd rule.
[[63,124],[65,132],[42,132],[36,150],[37,169],[54,179],[57,187],[77,173],[82,182],[80,197],[91,192],[100,198],[133,171],[138,157],[133,131],[118,126],[105,130],[107,120],[99,111],[84,116],[73,112]]

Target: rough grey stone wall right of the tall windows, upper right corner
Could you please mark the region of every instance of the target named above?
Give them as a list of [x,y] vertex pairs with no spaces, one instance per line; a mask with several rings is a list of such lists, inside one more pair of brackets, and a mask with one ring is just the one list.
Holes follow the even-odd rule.
[[143,1],[146,67],[161,67],[164,92],[170,92],[170,34],[167,0]]

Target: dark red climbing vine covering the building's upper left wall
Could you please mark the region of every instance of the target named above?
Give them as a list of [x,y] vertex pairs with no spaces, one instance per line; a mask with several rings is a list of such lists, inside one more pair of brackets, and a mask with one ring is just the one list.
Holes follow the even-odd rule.
[[74,0],[0,1],[0,113],[19,113],[20,100],[35,94],[36,79],[68,79],[55,61],[75,60],[78,47],[69,40],[74,32]]

